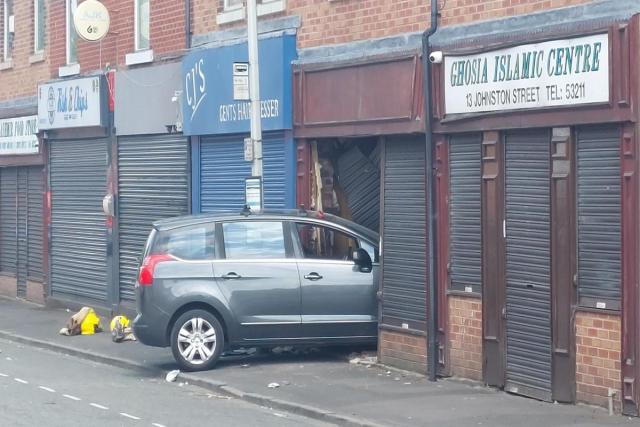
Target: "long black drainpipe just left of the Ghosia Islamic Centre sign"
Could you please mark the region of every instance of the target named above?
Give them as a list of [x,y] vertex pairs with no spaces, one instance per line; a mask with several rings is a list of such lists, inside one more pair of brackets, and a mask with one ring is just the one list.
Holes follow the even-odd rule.
[[431,0],[431,25],[422,33],[422,75],[424,86],[424,130],[426,139],[426,200],[427,209],[427,254],[428,254],[428,279],[429,293],[427,313],[429,315],[427,324],[428,344],[427,344],[427,360],[429,380],[436,381],[438,374],[438,293],[436,286],[436,259],[435,259],[435,237],[436,237],[436,221],[435,221],[435,200],[434,200],[434,168],[433,168],[433,109],[431,104],[431,63],[429,55],[431,48],[429,46],[429,38],[438,29],[438,0]]

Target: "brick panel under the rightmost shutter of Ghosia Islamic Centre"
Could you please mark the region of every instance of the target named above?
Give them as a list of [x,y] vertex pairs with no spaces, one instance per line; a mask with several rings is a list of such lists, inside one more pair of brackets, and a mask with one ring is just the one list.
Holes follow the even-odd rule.
[[578,312],[576,314],[577,400],[607,406],[609,388],[618,391],[620,411],[620,316]]

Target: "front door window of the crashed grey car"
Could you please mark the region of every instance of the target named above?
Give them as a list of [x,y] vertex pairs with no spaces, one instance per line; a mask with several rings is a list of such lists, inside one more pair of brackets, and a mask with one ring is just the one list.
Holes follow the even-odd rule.
[[348,261],[358,249],[357,239],[333,228],[299,222],[296,229],[305,258]]

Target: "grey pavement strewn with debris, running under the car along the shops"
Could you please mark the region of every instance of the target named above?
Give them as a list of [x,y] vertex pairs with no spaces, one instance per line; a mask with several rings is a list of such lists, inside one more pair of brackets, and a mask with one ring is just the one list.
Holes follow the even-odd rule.
[[[0,338],[157,375],[176,369],[169,349],[135,342],[114,344],[108,333],[58,335],[71,314],[0,298]],[[104,319],[103,324],[107,323]],[[413,374],[353,365],[347,354],[322,350],[306,355],[234,356],[214,370],[181,374],[178,381],[345,426],[640,424],[637,418],[609,417],[600,408],[554,405],[455,380],[432,383]],[[272,382],[280,386],[268,388]]]

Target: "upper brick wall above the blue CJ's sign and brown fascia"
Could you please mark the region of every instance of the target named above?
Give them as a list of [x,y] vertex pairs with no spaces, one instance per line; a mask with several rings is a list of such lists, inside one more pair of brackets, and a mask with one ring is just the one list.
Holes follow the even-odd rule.
[[[441,25],[526,14],[592,0],[447,0],[439,1]],[[245,25],[216,25],[222,0],[194,0],[193,31],[204,34]],[[300,16],[300,48],[345,43],[424,31],[429,24],[428,0],[287,0],[287,15]]]

